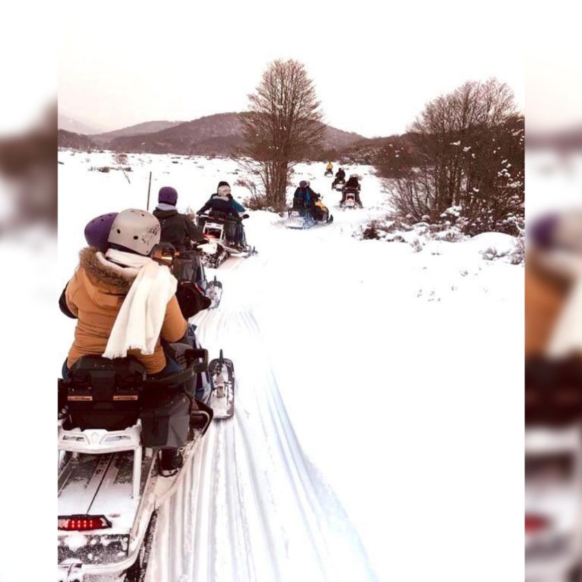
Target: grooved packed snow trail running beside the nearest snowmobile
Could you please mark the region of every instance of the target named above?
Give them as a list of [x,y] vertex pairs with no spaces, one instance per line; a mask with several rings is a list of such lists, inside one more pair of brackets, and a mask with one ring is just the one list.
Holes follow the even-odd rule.
[[[225,290],[246,266],[237,262],[218,270]],[[211,356],[222,348],[233,359],[235,416],[213,423],[161,509],[148,581],[374,580],[342,507],[303,455],[240,295],[225,291],[219,310],[195,318]]]

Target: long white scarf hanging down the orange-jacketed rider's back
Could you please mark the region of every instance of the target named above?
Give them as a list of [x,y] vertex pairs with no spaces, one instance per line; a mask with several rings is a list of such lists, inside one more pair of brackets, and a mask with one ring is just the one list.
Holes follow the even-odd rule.
[[168,267],[147,256],[109,249],[105,256],[97,253],[97,258],[113,270],[136,274],[117,314],[103,357],[125,358],[131,349],[138,349],[143,355],[154,353],[166,306],[176,292],[175,276]]

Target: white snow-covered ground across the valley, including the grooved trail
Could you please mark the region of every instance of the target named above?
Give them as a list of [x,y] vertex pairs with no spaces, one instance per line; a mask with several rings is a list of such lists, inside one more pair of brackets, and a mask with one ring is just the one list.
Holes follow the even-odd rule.
[[[118,170],[89,170],[115,166],[109,152],[58,159],[62,285],[85,224],[145,208],[150,171],[150,211],[161,186],[177,188],[182,210],[200,208],[221,179],[238,200],[247,195],[230,160],[130,155],[128,182]],[[250,213],[258,255],[224,263],[220,308],[193,318],[211,357],[223,348],[235,364],[236,412],[211,427],[161,511],[148,582],[418,582],[429,565],[448,579],[486,580],[475,572],[482,547],[443,555],[434,540],[439,520],[459,531],[495,520],[472,489],[504,446],[495,424],[522,415],[503,406],[516,389],[503,371],[522,360],[523,267],[484,259],[509,244],[494,233],[421,252],[354,238],[389,206],[372,168],[347,172],[363,177],[364,209],[335,207],[324,164],[297,166],[296,181],[324,194],[333,224],[293,231],[278,215]],[[60,362],[73,328],[59,322]],[[484,417],[490,430],[475,434]],[[466,477],[451,482],[459,464]],[[500,479],[491,494],[505,487]],[[491,544],[502,561],[504,548]]]

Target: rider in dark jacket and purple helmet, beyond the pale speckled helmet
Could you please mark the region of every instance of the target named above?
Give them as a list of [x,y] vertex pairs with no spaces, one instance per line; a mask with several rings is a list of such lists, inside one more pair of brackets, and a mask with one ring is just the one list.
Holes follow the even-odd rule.
[[186,251],[193,243],[204,243],[205,239],[191,217],[177,211],[177,201],[176,189],[163,186],[159,189],[158,205],[153,214],[159,220],[161,242],[170,243],[178,251]]

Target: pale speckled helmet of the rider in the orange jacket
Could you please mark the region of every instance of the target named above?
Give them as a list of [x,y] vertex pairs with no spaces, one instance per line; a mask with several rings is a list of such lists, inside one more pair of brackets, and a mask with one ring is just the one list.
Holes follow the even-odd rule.
[[159,243],[160,235],[159,220],[153,214],[131,208],[118,213],[107,243],[148,256]]

